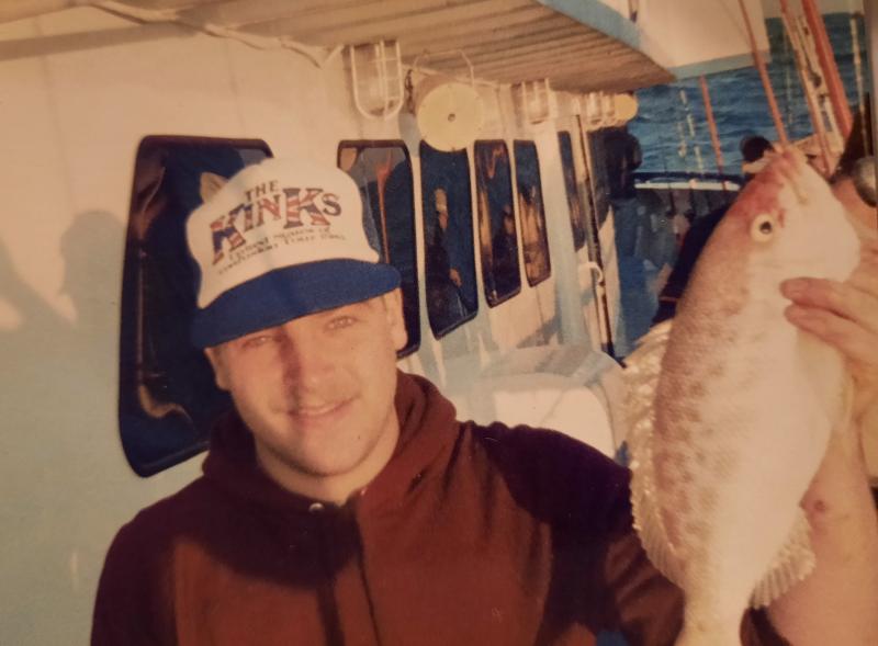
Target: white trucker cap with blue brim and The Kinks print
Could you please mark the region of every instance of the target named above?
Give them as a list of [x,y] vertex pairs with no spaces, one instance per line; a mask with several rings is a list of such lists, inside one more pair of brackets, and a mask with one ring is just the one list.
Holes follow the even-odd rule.
[[187,239],[198,268],[199,348],[399,285],[369,245],[357,184],[309,160],[248,166],[190,215]]

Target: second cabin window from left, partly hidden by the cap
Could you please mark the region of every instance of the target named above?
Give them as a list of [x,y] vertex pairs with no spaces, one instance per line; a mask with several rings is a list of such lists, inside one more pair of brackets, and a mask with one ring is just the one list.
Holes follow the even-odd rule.
[[418,271],[415,254],[415,196],[412,162],[403,141],[342,141],[338,167],[350,174],[363,200],[363,224],[381,260],[402,275],[408,341],[401,356],[420,344]]

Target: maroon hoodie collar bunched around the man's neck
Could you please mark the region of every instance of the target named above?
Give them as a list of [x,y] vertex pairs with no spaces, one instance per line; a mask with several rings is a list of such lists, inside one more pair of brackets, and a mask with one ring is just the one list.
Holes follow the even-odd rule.
[[[399,439],[381,473],[346,506],[361,511],[398,506],[417,483],[441,466],[457,433],[454,407],[427,379],[397,371],[394,404]],[[444,451],[443,451],[444,450]],[[248,505],[307,513],[315,500],[288,491],[259,468],[252,433],[236,411],[214,428],[204,477]]]

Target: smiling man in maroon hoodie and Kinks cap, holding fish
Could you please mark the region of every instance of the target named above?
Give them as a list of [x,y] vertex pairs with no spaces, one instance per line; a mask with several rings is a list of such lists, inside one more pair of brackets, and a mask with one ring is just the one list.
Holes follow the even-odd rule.
[[[254,217],[259,194],[284,208]],[[673,644],[682,598],[631,529],[624,469],[550,431],[457,422],[429,382],[396,371],[398,276],[375,262],[341,171],[247,168],[188,235],[193,340],[236,411],[204,476],[120,531],[94,646],[592,644],[603,628]],[[817,588],[770,609],[781,633],[806,634],[797,645],[878,636],[878,529],[855,467],[833,454],[811,491],[817,521],[832,519],[818,524]],[[851,577],[849,611],[835,608]],[[853,639],[808,637],[823,630]],[[743,633],[780,643],[764,613]]]

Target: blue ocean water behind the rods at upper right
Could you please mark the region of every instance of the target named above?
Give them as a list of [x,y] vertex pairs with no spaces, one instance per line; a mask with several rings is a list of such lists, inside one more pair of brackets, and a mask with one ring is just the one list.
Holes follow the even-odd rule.
[[[859,103],[854,65],[851,14],[824,16],[838,71],[847,99],[854,109]],[[867,38],[862,15],[855,18],[859,36],[863,79],[869,87]],[[811,120],[793,63],[793,52],[779,19],[766,21],[772,48],[768,75],[784,125],[791,139],[812,134]],[[746,135],[759,134],[778,139],[768,101],[755,67],[709,75],[707,78],[725,172],[741,170],[739,144]],[[705,105],[698,79],[656,86],[637,92],[640,109],[628,125],[643,148],[641,171],[716,172],[717,160],[710,143]],[[688,116],[691,115],[691,120]],[[689,124],[694,127],[694,136]],[[700,156],[700,160],[699,160]]]

